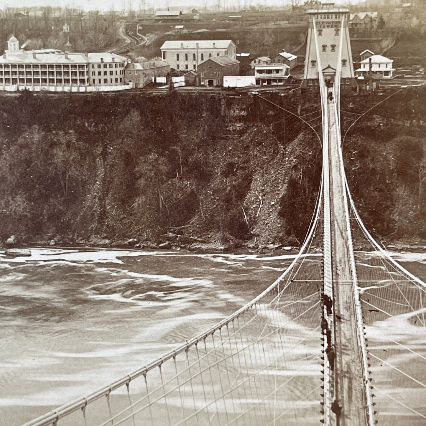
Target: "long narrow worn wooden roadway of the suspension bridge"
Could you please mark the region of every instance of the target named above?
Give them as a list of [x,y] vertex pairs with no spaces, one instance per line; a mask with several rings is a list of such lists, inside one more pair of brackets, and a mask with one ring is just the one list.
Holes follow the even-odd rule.
[[[328,100],[328,142],[330,163],[330,210],[332,279],[334,283],[334,344],[335,397],[342,408],[336,416],[337,425],[365,426],[366,395],[362,368],[362,355],[358,341],[353,286],[357,283],[351,268],[350,230],[345,218],[347,201],[340,155],[340,131],[336,102]],[[358,302],[359,303],[359,302]],[[340,319],[339,319],[340,317]]]

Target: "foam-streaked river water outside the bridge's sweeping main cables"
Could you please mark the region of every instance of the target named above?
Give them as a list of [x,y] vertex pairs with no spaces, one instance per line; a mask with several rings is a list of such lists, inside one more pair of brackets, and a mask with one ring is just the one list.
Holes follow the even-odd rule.
[[[111,249],[0,252],[0,418],[20,425],[209,328],[293,255]],[[426,255],[393,253],[426,278]]]

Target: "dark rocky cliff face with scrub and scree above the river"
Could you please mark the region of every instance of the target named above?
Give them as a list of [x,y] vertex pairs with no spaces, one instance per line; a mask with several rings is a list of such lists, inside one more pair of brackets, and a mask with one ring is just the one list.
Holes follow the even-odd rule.
[[[348,133],[345,154],[368,225],[383,235],[423,236],[415,164],[425,158],[425,92],[405,96],[404,110],[400,99],[387,108],[399,108],[409,126],[380,109]],[[312,97],[268,99],[310,118],[320,108]],[[342,102],[359,111],[364,101]],[[320,184],[320,141],[273,104],[176,92],[4,99],[0,237],[297,244]],[[408,146],[412,163],[404,165]]]

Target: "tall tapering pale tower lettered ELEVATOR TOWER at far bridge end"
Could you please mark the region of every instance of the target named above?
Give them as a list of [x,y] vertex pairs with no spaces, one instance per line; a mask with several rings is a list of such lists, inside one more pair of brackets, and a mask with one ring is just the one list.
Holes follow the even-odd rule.
[[[355,80],[351,42],[349,40],[349,9],[336,7],[334,3],[321,4],[320,2],[316,2],[314,7],[315,9],[307,10],[309,27],[306,39],[305,72],[301,89],[318,90],[319,72],[323,73],[328,84],[333,84],[336,71],[341,67],[340,88],[342,91],[351,90],[357,87],[357,81]],[[343,34],[340,34],[342,19]],[[314,32],[314,28],[316,32]],[[315,39],[318,40],[320,58],[317,58]],[[340,58],[341,63],[338,64],[340,40],[342,40],[342,56]],[[318,59],[320,59],[321,69],[318,67]]]

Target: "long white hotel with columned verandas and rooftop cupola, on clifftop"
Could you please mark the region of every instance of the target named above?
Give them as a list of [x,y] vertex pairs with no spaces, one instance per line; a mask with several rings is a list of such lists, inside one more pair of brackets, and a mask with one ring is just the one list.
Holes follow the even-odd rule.
[[126,58],[114,53],[25,51],[12,36],[0,56],[0,90],[84,92],[90,86],[122,86],[126,63]]

